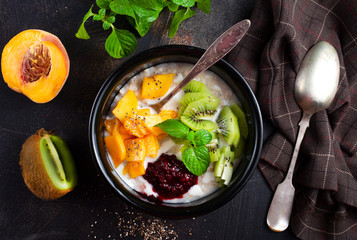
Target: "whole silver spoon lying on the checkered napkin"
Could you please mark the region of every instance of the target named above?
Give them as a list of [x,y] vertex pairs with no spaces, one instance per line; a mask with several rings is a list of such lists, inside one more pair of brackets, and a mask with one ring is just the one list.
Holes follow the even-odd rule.
[[339,76],[340,63],[336,49],[327,42],[314,45],[300,65],[294,95],[303,110],[303,116],[288,173],[278,185],[268,211],[267,224],[274,231],[284,231],[289,225],[295,195],[292,178],[302,139],[311,116],[327,108],[335,97]]

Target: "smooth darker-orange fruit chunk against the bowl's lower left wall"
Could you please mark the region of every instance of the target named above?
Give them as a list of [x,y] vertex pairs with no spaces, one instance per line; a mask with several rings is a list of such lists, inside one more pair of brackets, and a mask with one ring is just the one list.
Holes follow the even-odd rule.
[[113,160],[114,166],[118,167],[120,163],[126,157],[126,147],[124,145],[124,140],[119,134],[119,132],[114,132],[113,135],[109,135],[104,138],[105,145]]

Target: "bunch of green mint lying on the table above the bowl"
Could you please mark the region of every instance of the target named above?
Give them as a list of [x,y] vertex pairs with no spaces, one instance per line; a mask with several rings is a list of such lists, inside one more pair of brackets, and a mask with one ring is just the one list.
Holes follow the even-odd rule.
[[196,11],[192,10],[192,8],[198,8],[209,14],[211,0],[96,0],[96,5],[99,8],[98,13],[92,11],[92,5],[83,17],[76,37],[90,39],[84,24],[91,17],[94,21],[102,21],[104,30],[112,29],[111,34],[108,36],[109,40],[107,39],[105,43],[105,49],[110,56],[122,58],[136,49],[137,41],[131,31],[115,27],[114,24],[118,19],[123,20],[117,15],[125,16],[129,24],[143,37],[150,30],[160,13],[165,8],[168,8],[169,11],[175,13],[169,29],[169,38],[172,38],[176,35],[181,22],[196,14]]

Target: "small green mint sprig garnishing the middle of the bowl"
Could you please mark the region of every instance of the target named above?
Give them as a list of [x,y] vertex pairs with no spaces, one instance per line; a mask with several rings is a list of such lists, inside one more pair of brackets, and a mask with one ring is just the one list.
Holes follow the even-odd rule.
[[207,171],[210,164],[209,150],[205,146],[212,140],[212,134],[205,129],[192,131],[177,119],[168,119],[155,125],[172,137],[188,140],[192,144],[185,144],[182,162],[193,174],[200,176]]

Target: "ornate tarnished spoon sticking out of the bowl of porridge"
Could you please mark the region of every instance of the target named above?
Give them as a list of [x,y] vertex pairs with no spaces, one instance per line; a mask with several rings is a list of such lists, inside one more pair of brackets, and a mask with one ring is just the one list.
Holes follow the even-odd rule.
[[186,77],[176,86],[176,88],[167,94],[161,101],[150,105],[150,107],[152,107],[156,112],[160,112],[161,108],[194,77],[207,70],[213,64],[221,60],[227,53],[229,53],[243,38],[249,27],[250,21],[246,19],[236,23],[225,31],[211,44],[211,46],[209,46],[202,57],[193,66]]

